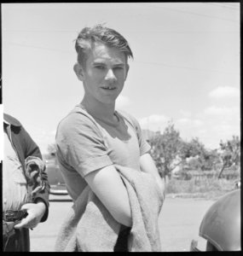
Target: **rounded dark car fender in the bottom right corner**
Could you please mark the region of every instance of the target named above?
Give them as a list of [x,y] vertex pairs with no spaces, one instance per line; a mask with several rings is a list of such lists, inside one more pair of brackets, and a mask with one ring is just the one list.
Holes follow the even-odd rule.
[[191,242],[191,251],[240,251],[240,189],[219,198],[205,213],[200,224],[200,238],[206,242],[205,250],[198,241]]

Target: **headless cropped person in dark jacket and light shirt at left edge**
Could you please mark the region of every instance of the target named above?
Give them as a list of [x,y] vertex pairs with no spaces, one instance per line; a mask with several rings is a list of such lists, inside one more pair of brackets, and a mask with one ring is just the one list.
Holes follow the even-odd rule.
[[29,252],[29,230],[48,218],[49,183],[36,143],[17,119],[3,115],[3,251]]

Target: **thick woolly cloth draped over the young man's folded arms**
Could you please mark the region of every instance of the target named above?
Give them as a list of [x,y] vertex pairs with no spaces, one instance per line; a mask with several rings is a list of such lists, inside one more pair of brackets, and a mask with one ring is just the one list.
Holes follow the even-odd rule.
[[[159,252],[158,218],[164,195],[154,177],[115,165],[124,181],[131,208],[130,252]],[[67,214],[55,241],[56,252],[113,252],[120,224],[87,186]]]

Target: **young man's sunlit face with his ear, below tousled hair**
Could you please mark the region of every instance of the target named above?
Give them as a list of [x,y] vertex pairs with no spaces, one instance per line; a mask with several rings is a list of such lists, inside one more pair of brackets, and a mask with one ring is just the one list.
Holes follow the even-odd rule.
[[124,87],[129,66],[119,49],[95,43],[85,68],[78,65],[78,79],[84,82],[85,97],[102,103],[114,103]]

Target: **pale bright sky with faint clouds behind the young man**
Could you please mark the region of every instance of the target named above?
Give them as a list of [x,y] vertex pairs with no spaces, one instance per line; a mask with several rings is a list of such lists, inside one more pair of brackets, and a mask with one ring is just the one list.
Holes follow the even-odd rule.
[[[134,60],[117,109],[142,129],[173,122],[206,148],[240,136],[240,3],[3,3],[3,106],[38,143],[55,142],[58,123],[84,96],[73,72],[74,40],[105,23]],[[1,140],[3,135],[1,136]],[[3,144],[3,143],[1,143]]]

